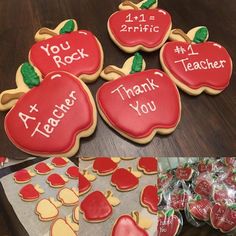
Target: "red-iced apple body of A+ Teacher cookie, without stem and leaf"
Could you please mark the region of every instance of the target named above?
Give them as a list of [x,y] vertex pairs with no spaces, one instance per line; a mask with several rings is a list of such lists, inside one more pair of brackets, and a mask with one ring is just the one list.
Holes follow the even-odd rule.
[[8,112],[5,130],[13,144],[27,153],[69,157],[77,152],[80,137],[93,133],[95,109],[82,81],[66,72],[53,72]]

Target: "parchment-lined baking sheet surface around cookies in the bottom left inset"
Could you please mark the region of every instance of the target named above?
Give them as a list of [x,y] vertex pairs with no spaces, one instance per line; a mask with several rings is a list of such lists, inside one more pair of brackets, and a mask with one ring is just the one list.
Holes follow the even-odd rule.
[[[52,159],[52,158],[51,158]],[[47,159],[45,163],[51,163],[51,159]],[[26,169],[33,170],[36,164],[27,167]],[[15,211],[19,221],[24,226],[25,230],[28,232],[30,236],[48,236],[50,225],[52,221],[42,222],[38,219],[38,216],[34,213],[36,204],[43,198],[54,197],[56,199],[56,195],[61,188],[52,188],[47,183],[47,177],[52,173],[63,174],[66,176],[65,172],[69,166],[75,166],[73,162],[69,160],[65,167],[57,168],[55,167],[48,175],[38,175],[32,177],[31,181],[25,184],[17,184],[13,180],[14,173],[11,173],[1,179],[1,183],[3,185],[3,189],[5,191],[6,197],[11,204],[13,210]],[[78,180],[70,179],[65,184],[64,187],[77,187]],[[26,184],[39,184],[41,188],[44,189],[44,193],[40,195],[40,198],[34,202],[24,202],[21,200],[18,192],[20,189]],[[59,208],[58,217],[64,218],[67,215],[72,215],[72,207],[61,206]]]

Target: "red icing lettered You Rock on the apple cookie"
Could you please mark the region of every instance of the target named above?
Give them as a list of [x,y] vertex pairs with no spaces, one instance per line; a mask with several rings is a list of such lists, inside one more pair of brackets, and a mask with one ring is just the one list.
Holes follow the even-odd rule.
[[82,74],[95,74],[102,59],[95,36],[89,31],[80,30],[34,44],[29,60],[43,75],[66,71],[79,77]]

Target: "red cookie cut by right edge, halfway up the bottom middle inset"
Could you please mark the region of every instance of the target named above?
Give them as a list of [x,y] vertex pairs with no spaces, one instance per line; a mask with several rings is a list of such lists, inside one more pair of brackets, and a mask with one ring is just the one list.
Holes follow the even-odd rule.
[[157,214],[158,194],[157,186],[148,185],[144,187],[140,195],[141,205],[146,207],[152,214]]

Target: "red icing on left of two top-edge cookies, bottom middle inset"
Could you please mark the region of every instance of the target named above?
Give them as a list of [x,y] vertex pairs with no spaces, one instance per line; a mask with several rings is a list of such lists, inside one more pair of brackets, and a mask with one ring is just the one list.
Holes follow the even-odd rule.
[[109,157],[98,157],[93,162],[93,169],[99,174],[110,173],[115,170],[117,166],[117,163]]

